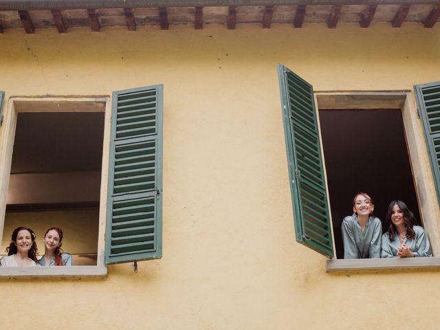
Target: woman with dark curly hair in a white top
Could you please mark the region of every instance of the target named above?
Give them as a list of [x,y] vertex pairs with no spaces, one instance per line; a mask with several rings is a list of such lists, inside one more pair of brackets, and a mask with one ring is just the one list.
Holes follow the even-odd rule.
[[26,227],[15,228],[12,232],[12,242],[6,248],[8,256],[0,259],[3,267],[36,266],[35,233]]

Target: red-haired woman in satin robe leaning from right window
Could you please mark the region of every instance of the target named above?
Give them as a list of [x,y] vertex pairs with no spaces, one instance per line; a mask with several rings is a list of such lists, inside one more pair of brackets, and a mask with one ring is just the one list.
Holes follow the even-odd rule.
[[342,220],[344,259],[380,258],[382,222],[373,215],[373,199],[365,192],[353,198],[353,215]]

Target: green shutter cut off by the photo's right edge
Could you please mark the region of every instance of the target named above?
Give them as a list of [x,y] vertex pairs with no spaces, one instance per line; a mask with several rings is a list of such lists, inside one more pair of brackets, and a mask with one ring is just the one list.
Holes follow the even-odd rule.
[[440,203],[440,82],[414,87]]

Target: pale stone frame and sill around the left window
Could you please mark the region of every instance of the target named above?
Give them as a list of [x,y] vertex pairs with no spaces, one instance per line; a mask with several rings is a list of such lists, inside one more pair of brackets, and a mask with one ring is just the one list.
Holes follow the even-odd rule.
[[[3,235],[6,198],[10,179],[12,151],[17,116],[23,112],[104,112],[104,139],[100,186],[97,265],[69,267],[0,267],[0,279],[5,278],[84,278],[107,277],[104,265],[104,233],[107,212],[107,184],[111,129],[111,102],[109,96],[72,97],[11,97],[8,111],[0,126],[0,233]],[[1,245],[2,236],[0,236]]]

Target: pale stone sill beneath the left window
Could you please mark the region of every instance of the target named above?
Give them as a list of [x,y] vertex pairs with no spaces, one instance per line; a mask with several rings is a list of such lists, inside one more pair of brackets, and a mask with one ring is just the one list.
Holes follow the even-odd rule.
[[106,266],[0,267],[1,279],[19,278],[105,278]]

